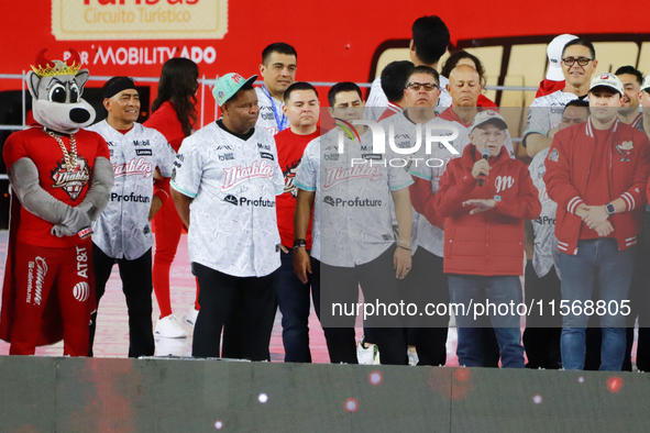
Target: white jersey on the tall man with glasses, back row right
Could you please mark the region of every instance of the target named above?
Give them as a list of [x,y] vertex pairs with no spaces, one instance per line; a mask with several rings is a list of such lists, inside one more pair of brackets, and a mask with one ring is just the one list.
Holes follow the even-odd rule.
[[533,133],[547,136],[549,131],[558,129],[562,122],[564,107],[574,99],[577,99],[575,95],[562,90],[535,98],[528,110],[524,138]]

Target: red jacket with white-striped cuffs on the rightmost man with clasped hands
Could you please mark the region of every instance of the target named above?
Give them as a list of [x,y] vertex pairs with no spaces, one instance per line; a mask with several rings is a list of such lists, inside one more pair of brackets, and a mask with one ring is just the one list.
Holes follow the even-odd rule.
[[[591,173],[595,138],[592,119],[558,132],[546,159],[544,182],[551,200],[558,203],[555,236],[558,248],[566,254],[577,252],[582,220],[575,215],[586,193],[590,176],[608,176],[612,200],[623,198],[626,212],[609,218],[618,249],[637,243],[641,232],[646,185],[650,175],[650,143],[648,137],[621,122],[610,129],[609,174]],[[596,204],[596,203],[587,203]]]

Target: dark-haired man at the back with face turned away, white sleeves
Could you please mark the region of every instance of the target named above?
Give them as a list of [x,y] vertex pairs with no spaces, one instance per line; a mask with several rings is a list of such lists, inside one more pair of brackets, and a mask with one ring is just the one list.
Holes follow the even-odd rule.
[[[444,22],[437,15],[420,16],[411,26],[412,37],[409,43],[410,60],[415,66],[430,66],[438,70],[438,63],[440,57],[447,53],[450,35],[449,29]],[[447,85],[449,80],[440,76],[440,98],[438,99],[438,111],[442,111],[451,106],[451,98],[447,92]],[[388,99],[382,90],[382,77],[377,77],[373,81],[371,92],[368,95],[366,110],[364,118],[377,121],[382,115],[383,110],[377,108],[388,107]]]

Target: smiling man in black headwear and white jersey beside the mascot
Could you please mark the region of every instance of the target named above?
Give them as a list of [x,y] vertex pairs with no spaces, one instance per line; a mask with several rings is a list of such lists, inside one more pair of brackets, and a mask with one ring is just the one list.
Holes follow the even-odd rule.
[[[152,246],[150,221],[154,199],[154,170],[169,177],[174,149],[165,136],[136,123],[140,96],[133,79],[113,77],[102,88],[108,118],[89,127],[109,146],[115,182],[110,201],[92,223],[92,264],[97,304],[115,262],[129,307],[129,356],[153,356]],[[159,207],[158,207],[159,208]],[[154,208],[155,210],[155,208]],[[97,312],[90,326],[90,356]]]

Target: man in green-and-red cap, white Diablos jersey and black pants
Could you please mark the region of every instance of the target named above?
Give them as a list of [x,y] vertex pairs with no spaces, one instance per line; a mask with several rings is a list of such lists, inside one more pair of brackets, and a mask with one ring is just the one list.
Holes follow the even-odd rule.
[[174,164],[172,197],[199,282],[195,357],[271,358],[280,266],[275,197],[285,182],[273,136],[255,126],[255,78],[219,78],[212,93],[223,116],[185,138]]

